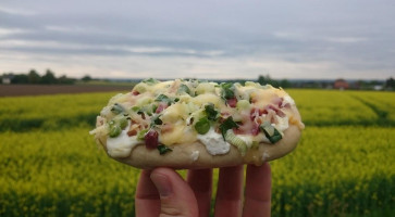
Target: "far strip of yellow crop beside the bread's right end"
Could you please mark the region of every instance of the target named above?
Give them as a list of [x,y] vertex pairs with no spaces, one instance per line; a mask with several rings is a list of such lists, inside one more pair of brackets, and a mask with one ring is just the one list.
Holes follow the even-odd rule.
[[[289,90],[288,93],[309,126],[395,126],[394,92]],[[383,117],[375,107],[391,115]]]

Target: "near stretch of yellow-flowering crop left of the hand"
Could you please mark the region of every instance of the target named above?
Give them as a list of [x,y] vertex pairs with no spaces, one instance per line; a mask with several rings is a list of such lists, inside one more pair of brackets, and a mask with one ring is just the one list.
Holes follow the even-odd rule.
[[131,216],[138,170],[88,130],[0,133],[0,216]]

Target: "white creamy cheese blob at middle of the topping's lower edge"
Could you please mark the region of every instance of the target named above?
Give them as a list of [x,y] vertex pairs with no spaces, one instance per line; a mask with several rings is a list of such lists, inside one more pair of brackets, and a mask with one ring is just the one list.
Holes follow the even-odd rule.
[[217,133],[213,128],[206,135],[198,135],[197,139],[206,145],[211,155],[226,154],[231,149],[231,144],[224,141],[222,135]]

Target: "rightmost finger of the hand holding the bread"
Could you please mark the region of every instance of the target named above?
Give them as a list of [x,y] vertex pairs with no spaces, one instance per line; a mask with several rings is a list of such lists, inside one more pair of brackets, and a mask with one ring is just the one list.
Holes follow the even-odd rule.
[[245,205],[243,216],[270,216],[271,170],[270,165],[247,166]]

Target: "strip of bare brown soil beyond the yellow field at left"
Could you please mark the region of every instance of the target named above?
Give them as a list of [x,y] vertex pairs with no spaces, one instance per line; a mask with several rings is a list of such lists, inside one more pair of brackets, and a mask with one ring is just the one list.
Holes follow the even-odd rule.
[[132,88],[125,86],[0,85],[0,97],[129,91]]

